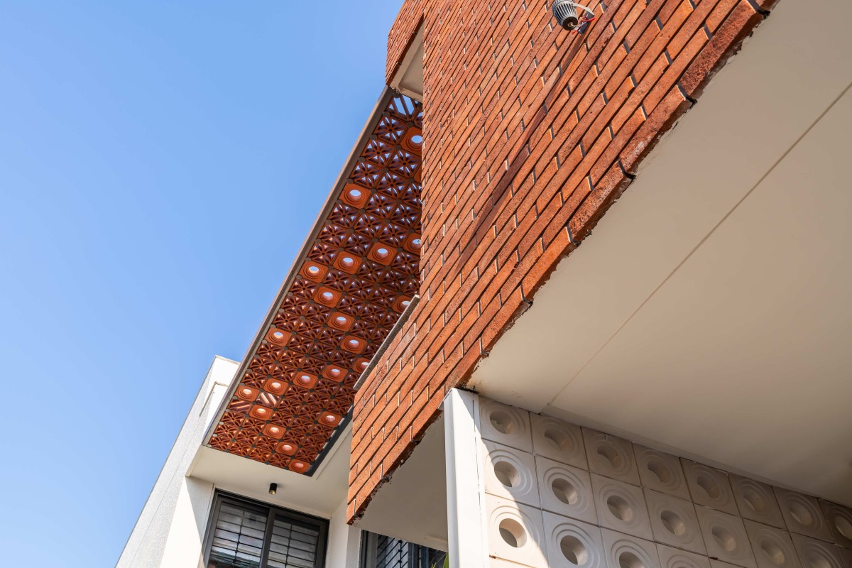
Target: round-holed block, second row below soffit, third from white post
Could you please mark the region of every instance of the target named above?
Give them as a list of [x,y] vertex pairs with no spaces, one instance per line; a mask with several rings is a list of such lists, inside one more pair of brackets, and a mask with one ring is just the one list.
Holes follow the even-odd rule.
[[642,489],[595,473],[591,476],[597,518],[602,527],[653,540]]

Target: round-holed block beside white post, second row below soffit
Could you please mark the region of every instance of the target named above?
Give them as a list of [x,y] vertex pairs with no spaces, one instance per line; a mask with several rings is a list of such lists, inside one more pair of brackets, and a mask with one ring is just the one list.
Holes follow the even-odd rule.
[[489,440],[482,440],[482,445],[486,493],[539,507],[533,454]]

